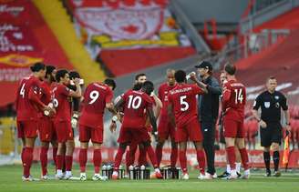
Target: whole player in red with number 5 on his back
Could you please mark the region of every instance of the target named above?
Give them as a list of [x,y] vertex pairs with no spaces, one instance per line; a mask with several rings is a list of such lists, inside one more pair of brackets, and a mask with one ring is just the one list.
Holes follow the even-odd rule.
[[191,74],[191,80],[197,85],[186,84],[186,73],[178,70],[174,74],[177,86],[175,86],[168,95],[169,106],[168,113],[172,126],[176,126],[176,141],[180,146],[180,167],[182,170],[182,179],[189,179],[187,170],[186,149],[187,142],[191,140],[196,148],[197,160],[200,166],[200,176],[205,176],[205,157],[202,149],[201,126],[198,121],[196,95],[207,93],[207,88],[197,80],[195,74]]

